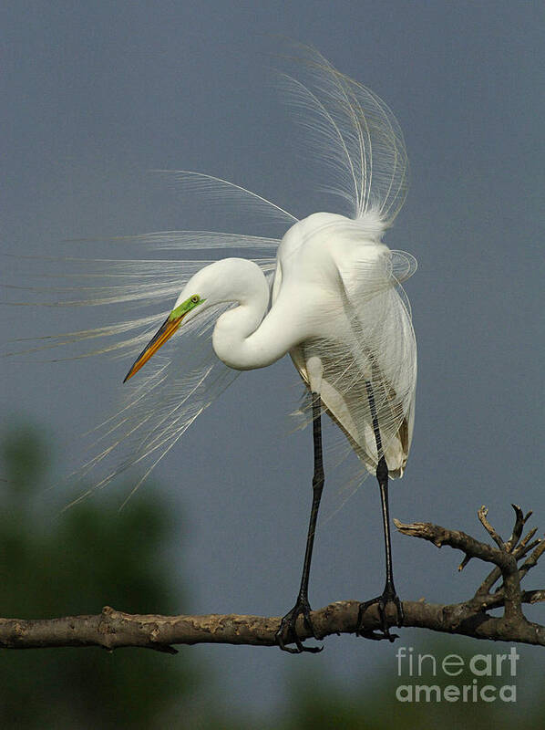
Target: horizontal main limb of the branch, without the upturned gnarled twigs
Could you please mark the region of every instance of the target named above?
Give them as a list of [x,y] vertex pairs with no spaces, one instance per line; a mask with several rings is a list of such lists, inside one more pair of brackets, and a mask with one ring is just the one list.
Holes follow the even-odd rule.
[[[537,592],[534,591],[534,594]],[[531,602],[540,600],[534,597]],[[354,633],[359,601],[338,600],[311,613],[316,632]],[[519,641],[545,646],[545,627],[526,622],[509,625],[467,604],[450,606],[406,600],[405,626],[473,636],[492,641]],[[100,646],[108,651],[135,646],[158,652],[176,653],[172,644],[223,643],[273,646],[280,618],[236,614],[203,616],[159,616],[130,614],[108,606],[97,616],[68,616],[62,619],[0,619],[0,646],[5,649],[36,649],[57,646]],[[375,606],[365,612],[365,631],[380,629]],[[311,638],[297,624],[301,639]]]

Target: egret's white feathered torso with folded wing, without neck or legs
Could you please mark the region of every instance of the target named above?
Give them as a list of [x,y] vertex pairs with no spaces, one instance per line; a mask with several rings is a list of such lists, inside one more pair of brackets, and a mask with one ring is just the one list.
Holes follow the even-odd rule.
[[289,349],[293,364],[373,473],[379,455],[365,383],[383,393],[384,454],[390,475],[400,476],[412,435],[416,347],[383,232],[374,214],[319,213],[294,224],[279,246],[271,313],[292,309],[300,328]]

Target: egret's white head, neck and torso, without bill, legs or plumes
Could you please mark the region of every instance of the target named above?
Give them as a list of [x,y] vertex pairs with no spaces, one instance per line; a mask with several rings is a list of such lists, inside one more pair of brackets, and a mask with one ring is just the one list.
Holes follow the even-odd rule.
[[[236,370],[271,365],[289,352],[310,391],[375,473],[377,454],[366,383],[373,386],[390,476],[403,473],[409,451],[416,347],[410,317],[396,292],[392,252],[377,216],[304,218],[278,247],[272,303],[259,266],[223,259],[201,269],[175,304],[193,295],[201,308],[236,302],[218,318],[216,355]],[[190,315],[186,315],[187,317]]]

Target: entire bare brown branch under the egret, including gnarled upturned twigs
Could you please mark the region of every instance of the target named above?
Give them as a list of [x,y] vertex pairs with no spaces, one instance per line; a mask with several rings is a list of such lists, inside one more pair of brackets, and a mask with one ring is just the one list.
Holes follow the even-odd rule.
[[[493,563],[493,570],[483,580],[475,594],[466,601],[451,605],[427,603],[425,600],[403,602],[405,626],[431,631],[463,634],[476,639],[518,641],[545,646],[545,626],[524,617],[522,605],[545,600],[545,589],[522,590],[520,580],[533,568],[545,552],[545,540],[531,542],[536,530],[522,537],[531,513],[523,516],[515,510],[515,526],[507,542],[488,523],[487,510],[478,511],[478,518],[497,547],[483,543],[458,530],[449,530],[425,522],[404,525],[397,520],[397,529],[404,535],[420,537],[437,547],[447,545],[461,550],[468,560],[477,558]],[[519,560],[530,557],[519,567]],[[499,579],[502,584],[494,592]],[[360,603],[338,600],[311,613],[316,634],[321,638],[331,634],[354,633]],[[490,609],[503,607],[502,616],[491,616]],[[393,606],[386,607],[392,623],[396,620]],[[380,630],[376,606],[365,611],[360,631]],[[95,616],[68,616],[59,619],[23,620],[0,619],[0,647],[31,649],[56,646],[101,646],[108,651],[124,646],[142,647],[158,652],[176,653],[172,644],[228,643],[252,646],[273,646],[280,618],[209,614],[203,616],[159,616],[129,614],[105,607]],[[301,639],[311,637],[301,617],[297,623]]]

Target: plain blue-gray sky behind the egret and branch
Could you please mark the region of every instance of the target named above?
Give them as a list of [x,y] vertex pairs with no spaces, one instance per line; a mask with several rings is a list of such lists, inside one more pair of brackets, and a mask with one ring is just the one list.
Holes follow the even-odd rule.
[[[3,249],[57,255],[67,238],[211,227],[206,207],[184,208],[148,172],[163,168],[211,172],[313,213],[320,181],[294,154],[293,120],[269,72],[274,34],[313,44],[386,100],[411,164],[405,207],[386,237],[419,263],[406,284],[419,347],[416,429],[406,476],[392,488],[393,516],[479,535],[481,504],[507,531],[514,501],[545,527],[544,21],[538,2],[4,5]],[[94,246],[74,250],[106,255],[106,244]],[[37,265],[27,266],[5,261],[5,281],[24,286]],[[3,339],[18,328],[76,328],[73,311],[1,314]],[[32,419],[65,449],[108,412],[128,369],[101,360],[2,368],[5,424],[14,414]],[[158,469],[183,507],[180,579],[195,611],[279,615],[293,604],[312,458],[310,433],[289,435],[298,397],[288,359],[243,373]],[[324,503],[324,515],[334,513],[334,479]],[[457,555],[406,537],[394,538],[394,552],[406,599],[459,600],[481,575],[470,565],[459,576]],[[383,580],[368,480],[319,526],[311,600],[365,599]],[[545,583],[542,570],[531,583]],[[544,620],[542,610],[532,615]],[[427,639],[404,631],[406,645],[415,641]],[[293,657],[193,651],[225,673],[233,704],[282,703]],[[350,683],[377,665],[395,673],[394,652],[343,637],[295,661]]]

